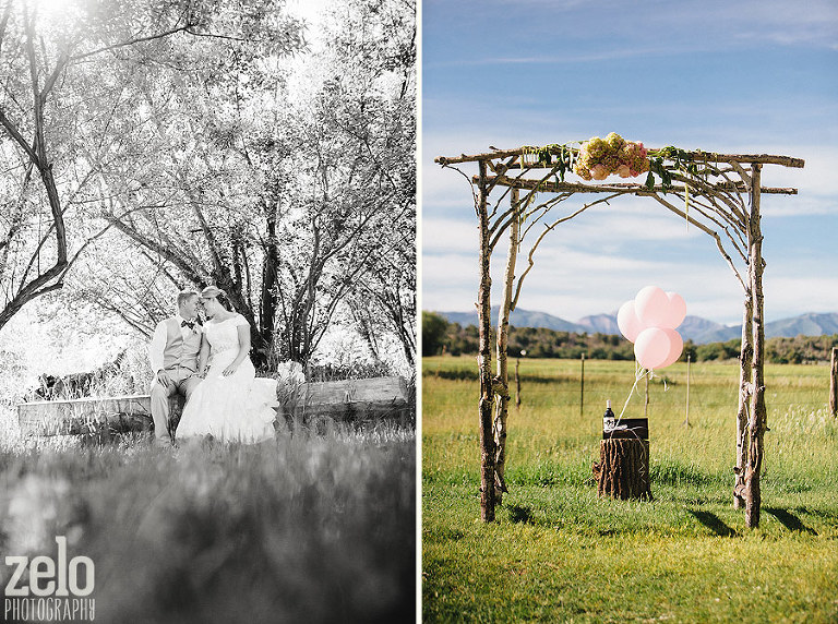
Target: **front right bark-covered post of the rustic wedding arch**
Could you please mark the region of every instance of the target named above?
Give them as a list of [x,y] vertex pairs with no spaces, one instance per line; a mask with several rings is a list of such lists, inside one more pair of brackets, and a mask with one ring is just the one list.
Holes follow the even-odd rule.
[[752,340],[754,355],[751,360],[752,386],[751,386],[751,413],[749,422],[749,457],[745,468],[745,526],[750,529],[759,526],[759,511],[762,506],[762,492],[759,488],[759,475],[763,470],[763,436],[766,429],[765,409],[765,321],[763,316],[763,232],[759,225],[759,183],[762,166],[751,165],[751,216],[749,218],[749,277],[751,292],[754,298],[754,315],[752,325]]

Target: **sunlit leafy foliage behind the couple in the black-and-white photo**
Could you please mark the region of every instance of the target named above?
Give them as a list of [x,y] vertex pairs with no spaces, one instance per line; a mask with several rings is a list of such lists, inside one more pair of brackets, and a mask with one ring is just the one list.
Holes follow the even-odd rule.
[[[63,34],[44,25],[49,52],[70,34],[86,55],[123,33],[180,29],[85,56],[57,83],[47,131],[77,257],[53,286],[148,335],[178,289],[212,283],[250,321],[259,365],[308,362],[336,321],[357,324],[374,359],[395,336],[410,362],[415,7],[334,3],[316,51],[284,2],[108,7],[75,14]],[[24,82],[10,101],[31,99]],[[26,253],[38,265],[55,256],[36,251],[50,231],[49,213],[29,211],[43,193],[15,202],[17,187],[3,195],[17,247],[0,245],[13,279]]]

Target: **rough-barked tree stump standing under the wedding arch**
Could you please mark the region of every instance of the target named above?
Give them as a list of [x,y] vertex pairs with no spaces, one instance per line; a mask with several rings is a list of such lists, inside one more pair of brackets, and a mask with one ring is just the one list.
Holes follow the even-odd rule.
[[597,494],[626,501],[651,501],[649,480],[649,441],[632,439],[601,440],[600,460],[594,463]]

